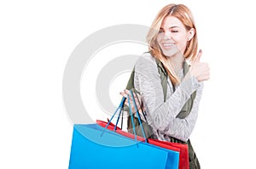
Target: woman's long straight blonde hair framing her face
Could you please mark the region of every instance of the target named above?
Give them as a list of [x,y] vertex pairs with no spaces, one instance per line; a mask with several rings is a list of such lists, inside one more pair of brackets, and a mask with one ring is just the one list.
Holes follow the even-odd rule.
[[[195,29],[195,21],[193,15],[188,7],[183,4],[168,4],[160,10],[156,15],[151,28],[148,31],[147,41],[149,52],[157,59],[160,59],[164,67],[166,68],[167,74],[170,77],[173,84],[178,84],[180,80],[178,79],[172,65],[167,61],[166,56],[161,52],[160,46],[157,42],[158,32],[160,31],[160,25],[166,16],[174,16],[180,20],[187,31],[191,28]],[[185,59],[194,59],[197,53],[198,42],[197,42],[197,32],[195,29],[195,35],[190,41],[188,41],[187,48],[184,51]]]

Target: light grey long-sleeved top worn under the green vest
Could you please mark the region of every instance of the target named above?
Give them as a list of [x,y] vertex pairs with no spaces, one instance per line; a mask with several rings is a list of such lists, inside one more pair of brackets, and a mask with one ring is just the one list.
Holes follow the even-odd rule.
[[[142,96],[148,124],[153,127],[154,135],[160,140],[170,141],[167,136],[172,136],[187,141],[197,120],[203,82],[198,82],[189,73],[184,76],[183,70],[177,74],[182,82],[173,92],[172,82],[168,77],[166,102],[164,102],[160,74],[154,57],[145,53],[135,65],[134,87]],[[195,90],[196,97],[190,114],[184,119],[176,118],[183,104]]]

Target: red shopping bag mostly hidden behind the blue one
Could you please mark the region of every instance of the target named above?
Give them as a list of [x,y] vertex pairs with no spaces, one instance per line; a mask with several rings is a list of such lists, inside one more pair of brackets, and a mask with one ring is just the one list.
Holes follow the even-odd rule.
[[[106,127],[108,125],[108,122],[106,122],[106,121],[96,120],[96,123],[98,125],[100,125],[101,127]],[[114,131],[114,127],[115,127],[115,125],[112,122],[110,122],[109,125],[108,125],[108,130]],[[116,127],[115,132],[118,132],[119,134],[121,134],[121,135],[123,135],[127,138],[132,138],[132,139],[135,138],[134,134],[132,134],[130,132],[125,132],[119,127]],[[137,136],[137,140],[144,142],[145,138]],[[154,145],[159,146],[161,148],[171,149],[173,151],[179,152],[178,168],[179,169],[189,169],[189,148],[188,148],[188,144],[171,143],[171,142],[161,141],[161,140],[152,139],[152,138],[148,138],[148,144],[154,144]]]

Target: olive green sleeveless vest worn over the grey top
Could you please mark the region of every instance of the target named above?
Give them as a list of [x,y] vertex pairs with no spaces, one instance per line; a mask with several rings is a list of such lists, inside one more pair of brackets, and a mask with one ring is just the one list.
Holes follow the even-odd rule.
[[[157,64],[158,72],[160,74],[161,85],[163,87],[163,93],[164,93],[164,101],[166,102],[167,76],[168,75],[167,75],[166,69],[164,68],[164,66],[160,62],[160,60],[155,59],[155,62]],[[184,73],[184,75],[186,75],[188,72],[189,72],[189,65],[186,62],[184,62],[184,64],[183,64],[183,73]],[[127,83],[126,89],[132,90],[135,93],[137,93],[137,91],[135,90],[135,87],[134,87],[134,73],[135,73],[135,70],[133,68],[133,70],[131,72],[129,82]],[[192,109],[192,106],[193,106],[195,95],[196,95],[196,91],[191,94],[190,99],[183,105],[183,109],[179,112],[179,114],[177,115],[177,118],[183,119],[183,118],[186,118],[189,115],[190,110]],[[127,110],[127,108],[125,110]],[[143,132],[142,132],[141,127],[139,127],[140,125],[139,125],[139,121],[137,120],[137,117],[134,117],[133,122],[134,122],[135,127],[136,127],[136,129],[135,129],[136,134],[143,137]],[[143,129],[144,129],[144,133],[146,135],[146,138],[154,138],[152,127],[150,127],[148,125],[148,122],[143,121],[142,125],[143,125]],[[131,116],[130,115],[128,116],[128,119],[127,119],[127,130],[128,130],[128,132],[133,133],[132,124],[131,124]],[[194,149],[193,149],[193,147],[190,143],[190,140],[188,140],[187,142],[183,142],[183,141],[181,141],[177,138],[172,138],[171,136],[169,136],[169,138],[170,138],[172,143],[188,144],[189,145],[189,169],[198,169],[198,168],[200,168],[199,161],[198,161],[198,159],[195,155],[195,151],[194,151]]]

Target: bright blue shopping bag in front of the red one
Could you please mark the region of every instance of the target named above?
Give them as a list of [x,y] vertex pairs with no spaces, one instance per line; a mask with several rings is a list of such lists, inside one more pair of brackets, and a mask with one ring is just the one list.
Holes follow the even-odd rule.
[[97,124],[75,124],[69,169],[177,169],[179,153],[163,149]]

